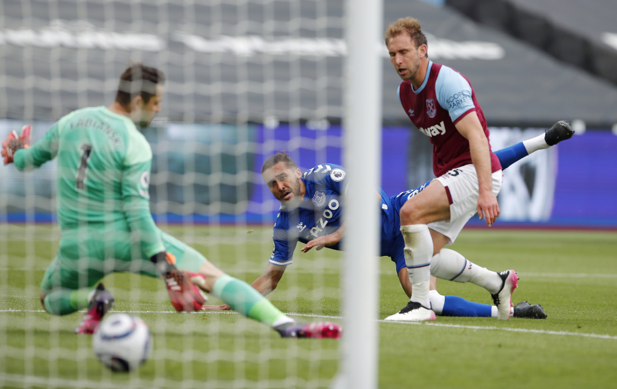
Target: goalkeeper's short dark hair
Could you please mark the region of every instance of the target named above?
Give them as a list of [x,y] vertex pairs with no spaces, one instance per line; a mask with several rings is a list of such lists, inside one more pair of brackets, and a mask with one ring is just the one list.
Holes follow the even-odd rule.
[[164,83],[165,75],[162,71],[140,62],[131,64],[120,76],[116,101],[128,108],[131,100],[141,95],[143,102],[147,103],[156,95],[156,85]]

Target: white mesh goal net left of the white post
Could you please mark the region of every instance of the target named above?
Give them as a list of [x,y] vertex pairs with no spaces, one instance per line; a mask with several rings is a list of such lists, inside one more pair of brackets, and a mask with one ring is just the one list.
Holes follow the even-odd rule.
[[[286,150],[302,172],[352,161],[344,9],[343,0],[0,0],[0,134],[32,124],[37,141],[73,110],[112,104],[130,63],[160,69],[162,111],[143,129],[156,224],[252,283],[268,265],[280,205],[261,177],[265,159]],[[52,316],[39,300],[60,241],[57,171],[56,161],[0,169],[0,386],[333,385],[341,342],[281,339],[233,311],[178,314],[160,279],[128,273],[103,280],[112,312],[142,318],[154,353],[132,373],[104,368],[90,336],[73,333],[84,311]],[[343,255],[302,246],[269,300],[296,320],[343,323]]]

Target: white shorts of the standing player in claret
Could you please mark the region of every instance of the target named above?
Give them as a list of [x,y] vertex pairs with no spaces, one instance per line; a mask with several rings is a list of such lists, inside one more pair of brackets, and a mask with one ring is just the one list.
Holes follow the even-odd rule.
[[[495,196],[501,189],[503,174],[501,170],[492,175],[493,193]],[[428,228],[450,238],[452,244],[461,233],[461,230],[478,211],[479,184],[478,174],[474,165],[465,165],[450,170],[439,178],[435,178],[446,188],[450,200],[450,220],[448,222],[429,223]]]

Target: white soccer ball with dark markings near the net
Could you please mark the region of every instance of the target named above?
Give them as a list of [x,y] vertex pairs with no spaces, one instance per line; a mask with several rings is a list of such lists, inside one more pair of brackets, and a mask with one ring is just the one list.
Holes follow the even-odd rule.
[[95,331],[92,348],[106,367],[127,373],[152,354],[152,333],[136,316],[113,314],[106,316]]

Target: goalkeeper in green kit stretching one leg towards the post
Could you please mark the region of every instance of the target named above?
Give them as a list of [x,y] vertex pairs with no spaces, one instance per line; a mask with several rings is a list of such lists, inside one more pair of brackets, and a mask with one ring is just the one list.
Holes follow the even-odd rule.
[[148,126],[160,111],[164,82],[157,69],[134,64],[121,75],[111,106],[75,110],[32,146],[29,126],[3,141],[5,165],[22,171],[58,158],[62,239],[40,285],[43,307],[53,315],[88,307],[75,332],[93,333],[114,301],[99,281],[110,272],[134,272],[162,276],[178,311],[202,309],[204,290],[284,337],[338,338],[339,325],[295,322],[156,227],[148,194],[152,150],[136,125]]

